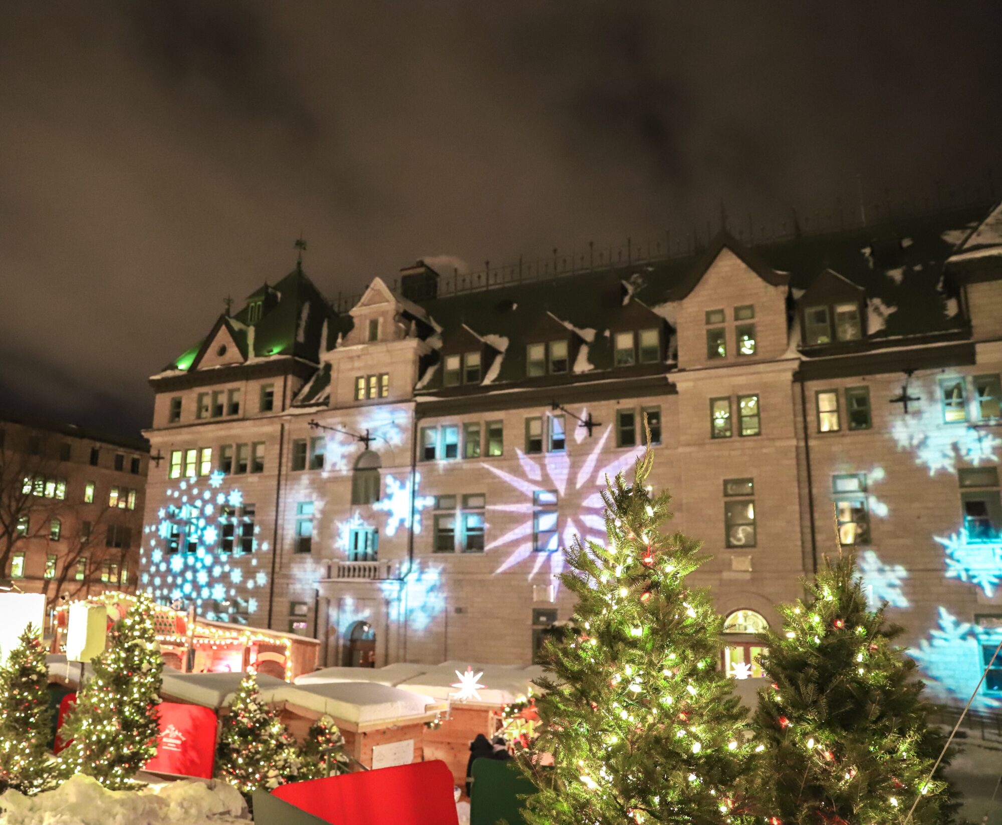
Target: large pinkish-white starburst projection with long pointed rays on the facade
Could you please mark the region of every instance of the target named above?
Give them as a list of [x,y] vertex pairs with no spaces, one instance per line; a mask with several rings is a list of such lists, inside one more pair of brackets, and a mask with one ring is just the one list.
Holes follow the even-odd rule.
[[[582,409],[581,417],[584,418],[585,415],[586,410]],[[611,428],[605,428],[605,432],[595,441],[591,450],[573,459],[570,455],[572,448],[569,445],[567,451],[546,453],[539,461],[531,459],[516,448],[515,455],[522,471],[520,476],[501,470],[493,464],[482,463],[483,467],[525,496],[523,502],[487,507],[489,511],[495,513],[515,513],[525,516],[523,521],[484,548],[487,553],[498,548],[508,549],[508,556],[495,573],[501,573],[534,557],[528,578],[531,580],[543,565],[548,564],[548,578],[553,581],[564,568],[562,549],[570,546],[575,536],[580,536],[582,541],[604,544],[605,506],[600,491],[605,489],[605,477],[613,478],[617,473],[631,467],[637,456],[643,452],[642,447],[637,447],[617,455],[607,465],[599,468],[598,460],[611,432]],[[574,441],[577,445],[584,441],[583,429],[575,429]],[[556,493],[552,507],[537,506],[536,494],[544,491]],[[543,511],[541,517],[545,519],[550,518],[549,514],[553,511],[556,512],[554,525],[556,533],[553,537],[556,552],[539,552],[533,549],[533,522],[536,512],[540,510]],[[545,529],[545,526],[543,527]],[[588,531],[593,533],[589,534]]]

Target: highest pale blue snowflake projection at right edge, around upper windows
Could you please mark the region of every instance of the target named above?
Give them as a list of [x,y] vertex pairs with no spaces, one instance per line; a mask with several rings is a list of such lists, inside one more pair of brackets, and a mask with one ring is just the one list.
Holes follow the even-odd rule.
[[[924,387],[923,394],[936,398],[937,391],[935,385]],[[891,425],[891,436],[899,450],[915,453],[916,464],[925,465],[930,476],[940,470],[956,473],[958,460],[974,467],[994,462],[995,452],[1002,446],[1002,440],[986,431],[967,424],[946,424],[935,401],[924,403],[919,412],[899,415]]]

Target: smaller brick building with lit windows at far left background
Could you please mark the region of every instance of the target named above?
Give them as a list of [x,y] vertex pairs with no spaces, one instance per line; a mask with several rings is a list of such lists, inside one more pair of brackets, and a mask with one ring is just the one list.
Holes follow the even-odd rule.
[[62,597],[134,590],[149,446],[0,417],[0,579]]

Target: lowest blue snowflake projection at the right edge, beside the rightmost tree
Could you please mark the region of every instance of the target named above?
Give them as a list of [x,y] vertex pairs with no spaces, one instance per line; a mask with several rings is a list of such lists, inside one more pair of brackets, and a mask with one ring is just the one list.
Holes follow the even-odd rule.
[[[989,630],[958,622],[946,608],[939,609],[939,629],[930,639],[919,642],[908,653],[931,680],[929,689],[939,698],[967,702],[981,679],[983,649],[994,648],[1002,641],[1002,630]],[[975,695],[971,707],[990,710],[1002,707],[1002,697],[992,698],[984,687]]]

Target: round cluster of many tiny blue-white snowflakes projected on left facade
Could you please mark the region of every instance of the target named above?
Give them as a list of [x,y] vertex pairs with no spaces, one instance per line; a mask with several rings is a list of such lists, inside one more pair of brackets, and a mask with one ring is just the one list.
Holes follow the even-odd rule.
[[[245,522],[235,514],[243,496],[238,489],[222,490],[225,479],[215,472],[203,480],[206,488],[192,479],[166,491],[169,504],[157,510],[158,523],[143,528],[139,581],[161,604],[180,600],[206,619],[246,624],[245,615],[255,612],[257,600],[245,599],[245,591],[266,587],[268,576],[263,571],[245,574],[241,569],[245,561],[237,562],[249,559],[256,567],[253,551],[259,543],[252,538],[250,556],[240,552]],[[223,506],[234,515],[224,517]],[[231,552],[221,548],[227,529]],[[255,526],[254,532],[260,528]],[[170,552],[172,547],[176,552]],[[267,550],[268,543],[261,549]],[[238,605],[244,608],[241,615],[235,613]]]

